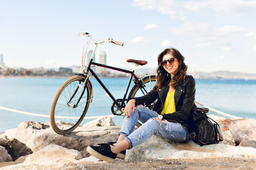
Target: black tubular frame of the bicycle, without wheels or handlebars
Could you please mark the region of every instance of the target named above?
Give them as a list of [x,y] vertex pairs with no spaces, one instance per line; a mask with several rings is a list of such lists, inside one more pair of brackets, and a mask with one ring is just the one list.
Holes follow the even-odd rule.
[[102,81],[100,80],[100,78],[97,76],[97,74],[91,69],[89,68],[89,72],[93,75],[93,77],[95,77],[95,79],[97,79],[97,81],[100,83],[100,85],[102,86],[103,89],[105,89],[105,91],[107,92],[107,94],[110,96],[110,98],[112,98],[112,100],[114,101],[114,103],[118,106],[119,109],[121,109],[122,107],[124,107],[124,101],[125,101],[125,98],[127,96],[127,93],[129,91],[129,86],[131,84],[131,81],[132,81],[132,77],[134,77],[135,81],[139,81],[139,79],[137,78],[137,76],[134,74],[134,71],[129,71],[127,69],[120,69],[120,68],[117,68],[117,67],[112,67],[112,66],[108,66],[108,65],[105,65],[105,64],[100,64],[100,63],[97,63],[97,62],[92,62],[91,64],[93,65],[96,65],[98,67],[105,67],[107,69],[114,69],[114,70],[117,70],[119,72],[125,72],[127,74],[131,74],[131,76],[129,77],[129,82],[128,82],[128,85],[127,85],[127,89],[124,93],[124,97],[122,98],[122,103],[121,105],[119,105],[119,103],[117,102],[117,100],[114,98],[114,96],[111,94],[111,92],[107,89],[107,87],[102,83]]

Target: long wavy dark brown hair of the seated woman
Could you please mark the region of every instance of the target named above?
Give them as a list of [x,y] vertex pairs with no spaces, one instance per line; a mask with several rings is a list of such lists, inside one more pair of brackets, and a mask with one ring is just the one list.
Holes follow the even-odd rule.
[[[178,70],[175,76],[171,79],[171,74],[166,72],[164,67],[161,65],[161,61],[163,60],[164,55],[170,54],[178,60]],[[166,48],[163,52],[161,52],[157,58],[158,68],[156,69],[156,86],[157,90],[159,90],[162,86],[166,86],[171,81],[172,88],[176,89],[176,86],[180,81],[183,81],[186,77],[188,66],[184,63],[185,58],[181,55],[181,52],[176,50],[175,48]]]

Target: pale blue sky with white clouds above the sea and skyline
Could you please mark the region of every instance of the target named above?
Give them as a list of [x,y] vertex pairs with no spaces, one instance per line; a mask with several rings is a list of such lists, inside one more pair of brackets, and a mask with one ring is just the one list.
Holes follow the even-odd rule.
[[[108,37],[124,46],[99,45],[107,64],[131,68],[175,47],[188,72],[256,73],[255,0],[0,0],[0,54],[8,67],[80,65],[86,44]],[[90,50],[91,47],[89,47]]]

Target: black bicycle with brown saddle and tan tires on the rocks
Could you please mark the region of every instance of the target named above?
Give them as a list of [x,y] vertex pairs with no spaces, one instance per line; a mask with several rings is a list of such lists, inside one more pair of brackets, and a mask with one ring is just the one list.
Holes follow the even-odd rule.
[[[92,74],[92,76],[95,77],[95,79],[100,83],[102,88],[105,89],[110,98],[112,98],[113,104],[111,106],[111,111],[114,115],[124,115],[124,107],[129,98],[147,94],[151,89],[153,89],[156,82],[155,74],[146,74],[145,77],[141,78],[137,77],[135,74],[135,68],[139,65],[145,65],[147,63],[145,60],[127,60],[127,62],[132,62],[135,64],[132,71],[93,62],[93,57],[95,55],[95,51],[97,50],[97,45],[100,45],[103,42],[110,42],[114,43],[115,45],[123,46],[122,42],[117,42],[112,38],[107,38],[107,40],[93,40],[90,33],[79,33],[78,35],[85,36],[87,40],[89,39],[86,44],[87,48],[90,42],[95,44],[95,48],[92,52],[92,56],[90,57],[90,62],[87,64],[87,67],[85,67],[84,60],[87,52],[86,50],[83,52],[82,65],[79,67],[80,74],[76,74],[75,76],[70,77],[63,83],[62,86],[60,86],[57,94],[55,94],[55,98],[53,99],[53,103],[50,108],[50,124],[53,130],[59,135],[67,135],[68,133],[73,132],[73,130],[75,130],[78,125],[80,125],[87,113],[87,109],[92,102],[92,83],[89,79],[89,74]],[[102,83],[100,78],[93,71],[91,68],[92,65],[97,67],[105,67],[107,69],[114,69],[118,72],[130,74],[127,89],[124,92],[123,98],[114,98],[105,84]],[[132,80],[134,81],[134,86],[132,87],[131,91],[129,91],[129,86],[131,85]],[[128,91],[129,95],[127,96]],[[153,106],[154,103],[151,103],[146,107],[153,108]],[[141,123],[138,122],[137,125],[139,126]]]

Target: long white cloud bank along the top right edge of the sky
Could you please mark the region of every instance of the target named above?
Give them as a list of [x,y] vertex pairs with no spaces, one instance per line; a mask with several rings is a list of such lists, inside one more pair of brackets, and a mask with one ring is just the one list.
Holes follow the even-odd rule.
[[134,6],[143,10],[160,11],[171,18],[183,20],[189,12],[209,13],[214,12],[216,16],[236,15],[256,10],[254,0],[208,0],[208,1],[178,1],[178,0],[134,0]]

